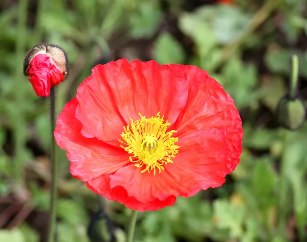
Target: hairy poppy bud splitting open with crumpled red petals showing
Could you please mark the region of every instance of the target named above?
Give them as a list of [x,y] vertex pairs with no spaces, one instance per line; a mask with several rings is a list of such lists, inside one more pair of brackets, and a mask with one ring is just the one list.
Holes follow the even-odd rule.
[[59,84],[69,73],[67,55],[58,46],[39,43],[27,53],[24,73],[30,77],[36,95],[48,97],[51,86]]

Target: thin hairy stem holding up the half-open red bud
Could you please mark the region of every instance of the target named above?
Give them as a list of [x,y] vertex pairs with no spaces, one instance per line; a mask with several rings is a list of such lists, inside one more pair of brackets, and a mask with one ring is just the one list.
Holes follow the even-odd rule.
[[54,241],[56,223],[56,200],[57,200],[57,157],[56,142],[53,136],[55,130],[55,86],[50,90],[50,121],[51,121],[51,194],[50,194],[50,219],[48,242]]

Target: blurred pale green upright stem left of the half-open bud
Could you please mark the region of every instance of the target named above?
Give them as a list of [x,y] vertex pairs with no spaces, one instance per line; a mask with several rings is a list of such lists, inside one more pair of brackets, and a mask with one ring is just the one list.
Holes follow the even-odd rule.
[[27,9],[28,0],[20,0],[18,5],[18,35],[16,38],[16,64],[15,64],[15,85],[14,85],[14,100],[15,105],[10,108],[10,118],[13,123],[13,140],[14,140],[14,163],[13,177],[17,186],[22,186],[24,175],[23,171],[23,152],[26,142],[26,124],[23,115],[23,109],[20,108],[20,103],[25,101],[23,85],[20,81],[24,81],[23,72],[20,67],[23,66],[25,55],[26,35],[27,35]]

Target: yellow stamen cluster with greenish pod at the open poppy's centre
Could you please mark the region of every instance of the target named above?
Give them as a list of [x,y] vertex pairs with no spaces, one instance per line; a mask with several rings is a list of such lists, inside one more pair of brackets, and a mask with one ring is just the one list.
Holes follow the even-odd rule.
[[163,165],[173,163],[171,158],[179,152],[179,146],[174,144],[178,138],[172,137],[177,131],[166,131],[170,123],[164,121],[160,113],[148,119],[139,115],[140,119],[133,121],[130,118],[131,125],[124,127],[121,134],[124,141],[120,140],[120,146],[131,154],[129,160],[136,163],[136,167],[143,168],[142,173],[153,171],[155,175],[156,169],[161,173]]

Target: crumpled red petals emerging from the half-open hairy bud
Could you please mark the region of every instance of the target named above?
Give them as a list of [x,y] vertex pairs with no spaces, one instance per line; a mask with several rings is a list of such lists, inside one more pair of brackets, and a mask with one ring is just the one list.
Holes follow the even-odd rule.
[[64,74],[51,63],[50,57],[45,54],[36,55],[29,64],[28,75],[37,96],[48,97],[51,86],[64,80]]

